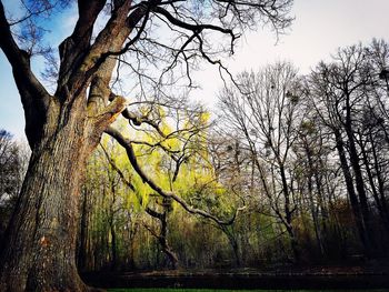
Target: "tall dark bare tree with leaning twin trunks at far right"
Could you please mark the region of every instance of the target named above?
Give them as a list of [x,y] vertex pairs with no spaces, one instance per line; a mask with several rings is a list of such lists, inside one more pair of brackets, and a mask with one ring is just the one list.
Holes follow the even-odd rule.
[[[357,228],[368,256],[377,251],[371,197],[387,221],[386,207],[380,199],[385,195],[380,195],[377,188],[383,185],[377,163],[385,164],[386,158],[381,157],[383,161],[380,162],[377,157],[375,159],[379,139],[372,139],[373,135],[385,135],[387,128],[385,114],[379,113],[385,107],[381,98],[385,87],[377,69],[387,58],[383,43],[373,41],[370,48],[351,46],[339,49],[332,62],[321,62],[310,77],[311,105],[335,138]],[[376,162],[370,163],[370,160]]]

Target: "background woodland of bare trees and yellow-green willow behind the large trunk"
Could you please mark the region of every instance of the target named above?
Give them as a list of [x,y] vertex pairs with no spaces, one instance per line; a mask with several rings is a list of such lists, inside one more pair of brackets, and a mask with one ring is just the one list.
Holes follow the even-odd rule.
[[[340,48],[308,75],[290,62],[241,72],[213,111],[152,102],[118,119],[136,160],[108,134],[88,160],[79,270],[387,256],[388,62],[389,44],[373,40]],[[0,147],[4,231],[28,154],[6,130]]]

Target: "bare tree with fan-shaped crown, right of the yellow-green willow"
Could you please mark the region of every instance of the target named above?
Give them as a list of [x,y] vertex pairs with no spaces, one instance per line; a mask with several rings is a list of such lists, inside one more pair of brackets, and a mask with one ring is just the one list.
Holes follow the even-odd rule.
[[292,224],[292,145],[301,121],[298,110],[301,88],[297,70],[289,63],[269,66],[258,74],[243,73],[240,91],[226,88],[220,97],[227,123],[239,131],[252,154],[263,193],[282,222],[299,260],[297,234]]

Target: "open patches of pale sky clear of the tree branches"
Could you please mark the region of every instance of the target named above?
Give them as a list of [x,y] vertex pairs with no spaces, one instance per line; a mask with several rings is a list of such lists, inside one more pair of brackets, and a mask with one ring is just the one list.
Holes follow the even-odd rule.
[[[14,0],[3,1],[16,2]],[[308,73],[320,60],[330,58],[337,48],[372,38],[389,41],[389,0],[295,0],[296,20],[287,36],[276,38],[267,28],[246,34],[228,66],[235,72],[258,70],[278,60],[288,60]],[[70,18],[71,16],[66,16]],[[72,23],[72,21],[64,22]],[[63,23],[63,31],[66,28]],[[1,37],[1,36],[0,36]],[[63,36],[54,36],[53,38]],[[216,68],[206,67],[194,78],[202,90],[196,99],[212,105],[221,87]],[[11,68],[0,50],[0,129],[23,137],[24,118]]]

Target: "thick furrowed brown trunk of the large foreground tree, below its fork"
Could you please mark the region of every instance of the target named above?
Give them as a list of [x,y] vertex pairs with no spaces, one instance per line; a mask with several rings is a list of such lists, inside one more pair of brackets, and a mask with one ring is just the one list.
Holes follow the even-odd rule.
[[6,234],[0,291],[87,290],[76,268],[76,236],[80,184],[96,142],[88,140],[82,110],[49,118],[32,149]]

